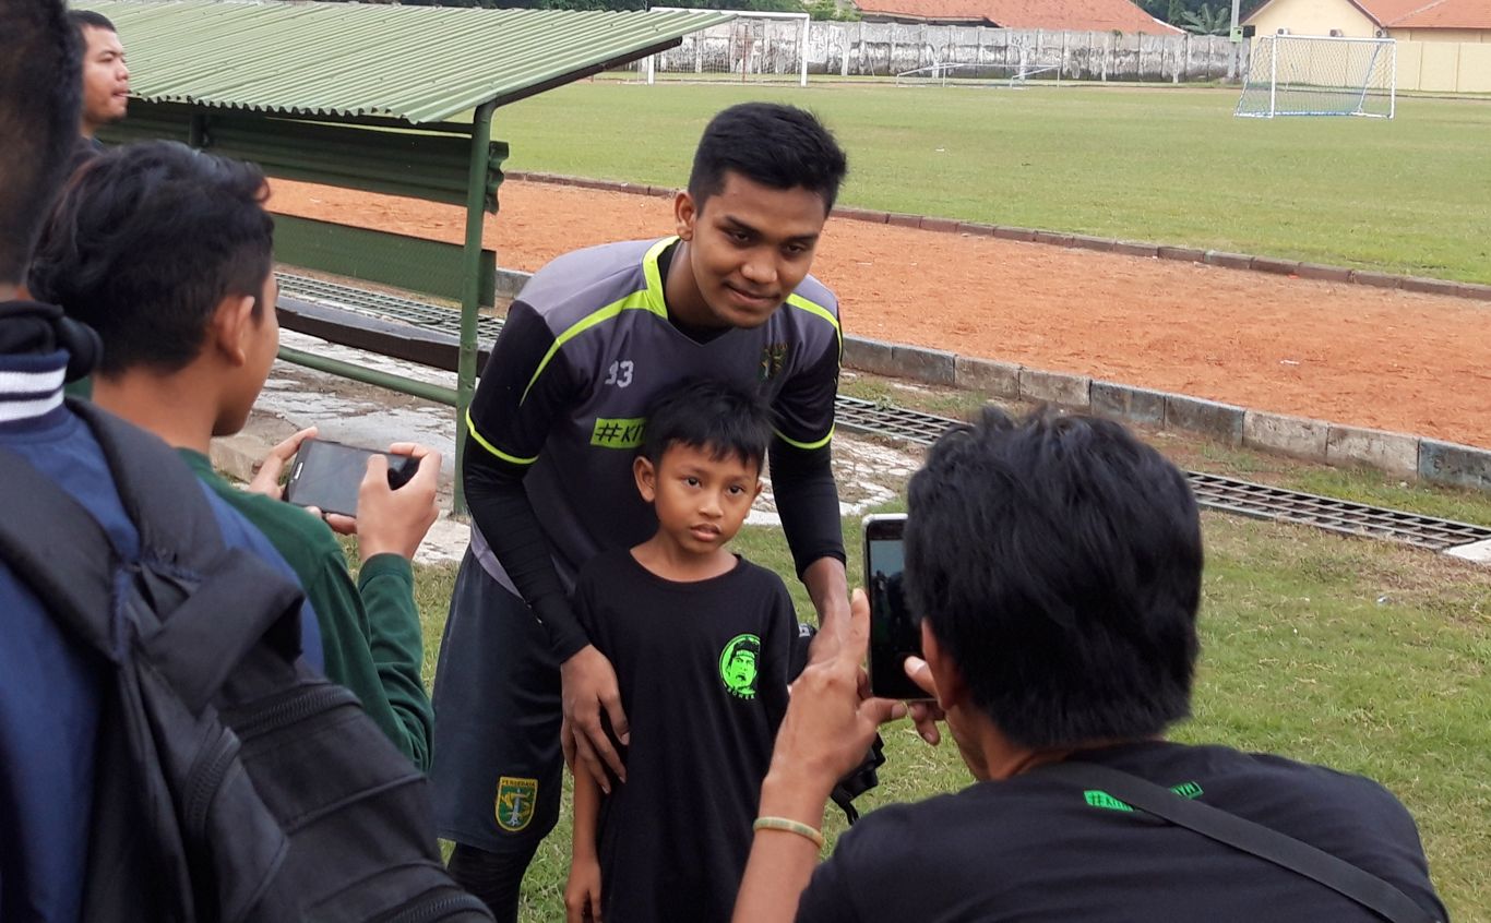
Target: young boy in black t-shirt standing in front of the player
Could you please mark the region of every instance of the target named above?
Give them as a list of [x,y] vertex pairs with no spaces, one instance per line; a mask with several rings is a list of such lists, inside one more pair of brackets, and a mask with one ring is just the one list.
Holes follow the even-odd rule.
[[626,783],[574,783],[568,919],[729,920],[787,707],[787,587],[726,546],[760,494],[765,407],[689,382],[647,415],[634,464],[658,531],[580,571],[574,611],[616,667]]

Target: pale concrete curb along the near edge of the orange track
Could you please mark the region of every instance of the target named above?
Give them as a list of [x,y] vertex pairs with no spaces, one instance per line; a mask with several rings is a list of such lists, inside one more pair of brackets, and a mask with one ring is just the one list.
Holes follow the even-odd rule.
[[[497,292],[513,297],[529,276],[499,268]],[[1191,432],[1229,446],[1325,465],[1360,465],[1412,480],[1491,491],[1491,449],[1476,446],[1236,407],[1185,394],[1093,380],[1084,374],[1027,368],[868,337],[844,337],[844,367],[924,385],[951,385],[990,398],[1054,404],[1136,426]]]

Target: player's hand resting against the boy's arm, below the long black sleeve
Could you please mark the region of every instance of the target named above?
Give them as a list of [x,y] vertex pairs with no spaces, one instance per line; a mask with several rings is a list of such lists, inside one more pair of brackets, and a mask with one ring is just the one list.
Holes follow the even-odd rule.
[[616,670],[593,644],[586,644],[559,667],[559,681],[564,690],[564,729],[559,734],[564,759],[571,771],[589,772],[595,784],[610,793],[607,766],[617,778],[626,781],[626,763],[605,734],[601,711],[605,711],[611,731],[622,746],[631,737]]

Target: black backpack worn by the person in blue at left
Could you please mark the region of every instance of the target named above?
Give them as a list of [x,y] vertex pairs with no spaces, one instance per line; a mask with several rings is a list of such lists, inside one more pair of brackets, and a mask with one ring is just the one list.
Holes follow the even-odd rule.
[[69,406],[103,447],[140,559],[121,561],[6,450],[0,555],[112,668],[83,919],[491,920],[440,863],[425,777],[300,659],[300,589],[224,546],[176,452]]

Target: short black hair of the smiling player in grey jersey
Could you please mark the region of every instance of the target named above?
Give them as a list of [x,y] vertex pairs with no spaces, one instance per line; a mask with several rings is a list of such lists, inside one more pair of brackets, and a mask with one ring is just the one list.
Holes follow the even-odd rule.
[[844,151],[811,112],[778,103],[740,103],[716,115],[699,139],[689,173],[693,206],[725,188],[725,174],[772,189],[804,188],[833,209],[848,164]]

